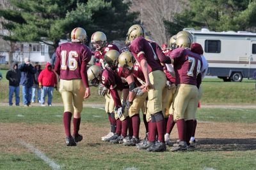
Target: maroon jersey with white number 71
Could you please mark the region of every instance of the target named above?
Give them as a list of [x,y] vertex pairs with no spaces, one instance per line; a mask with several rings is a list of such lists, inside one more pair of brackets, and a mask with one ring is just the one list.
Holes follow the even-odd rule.
[[187,49],[178,48],[172,50],[169,56],[173,58],[176,84],[191,84],[196,86],[196,77],[200,73],[202,66],[200,55]]

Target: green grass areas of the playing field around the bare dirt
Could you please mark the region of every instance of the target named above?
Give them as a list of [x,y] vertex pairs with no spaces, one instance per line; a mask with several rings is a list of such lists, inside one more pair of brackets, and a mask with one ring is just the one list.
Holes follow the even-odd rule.
[[[61,128],[61,134],[63,133],[62,107],[13,106],[1,107],[0,111],[0,123],[6,125],[19,123],[20,126],[30,128],[54,125]],[[199,121],[232,121],[254,125],[256,122],[254,112],[256,109],[199,109],[197,116]],[[86,128],[89,124],[94,128],[104,128],[108,126],[108,118],[104,111],[86,107],[82,113],[81,123]],[[29,129],[27,130],[29,132]],[[90,141],[90,137],[93,137],[93,134],[73,148],[68,148],[63,143],[42,143],[40,139],[33,139],[32,144],[59,164],[61,169],[131,169],[132,167],[136,169],[254,169],[256,166],[255,150],[148,153],[133,147],[103,143],[99,139]],[[236,145],[234,147],[236,148]],[[10,150],[15,148],[17,152],[6,151],[6,148]],[[0,145],[0,159],[1,169],[50,169],[45,162],[15,141]]]

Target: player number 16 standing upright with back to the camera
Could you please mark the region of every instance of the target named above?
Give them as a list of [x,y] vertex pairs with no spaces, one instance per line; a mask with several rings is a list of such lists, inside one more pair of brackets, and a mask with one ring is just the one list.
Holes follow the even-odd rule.
[[[60,93],[64,104],[63,123],[67,146],[76,146],[83,139],[79,134],[83,98],[90,96],[86,65],[92,58],[90,49],[84,45],[86,31],[76,27],[71,32],[71,43],[63,43],[56,49],[55,72],[60,75]],[[70,133],[72,114],[74,131]]]

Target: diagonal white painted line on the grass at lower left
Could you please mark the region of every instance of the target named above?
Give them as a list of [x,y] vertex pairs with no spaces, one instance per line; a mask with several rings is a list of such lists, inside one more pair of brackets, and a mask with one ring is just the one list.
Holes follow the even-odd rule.
[[61,169],[60,165],[56,164],[53,160],[51,160],[50,158],[48,158],[46,155],[44,155],[44,153],[42,153],[42,151],[36,149],[33,145],[26,143],[25,141],[20,140],[19,141],[20,144],[22,144],[23,146],[26,146],[26,148],[28,148],[30,151],[32,151],[33,153],[35,153],[35,155],[39,158],[41,158],[42,160],[44,160],[44,162],[46,164],[48,164],[52,169]]

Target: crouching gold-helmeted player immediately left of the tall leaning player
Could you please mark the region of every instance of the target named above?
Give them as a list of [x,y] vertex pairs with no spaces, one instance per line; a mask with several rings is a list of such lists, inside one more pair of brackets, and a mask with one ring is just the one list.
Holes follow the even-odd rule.
[[[130,91],[127,108],[129,109],[129,116],[132,120],[133,134],[132,139],[125,141],[124,145],[127,146],[135,146],[140,141],[140,109],[145,106],[145,100],[147,98],[147,91],[142,91],[140,96],[134,96],[134,89],[136,89],[136,87],[144,89],[143,84],[145,84],[145,78],[140,65],[137,62],[134,64],[134,60],[132,53],[129,51],[122,52],[118,58],[118,75],[128,82]],[[145,119],[146,115],[143,116],[143,120]],[[145,123],[145,127],[147,131],[147,121]]]

